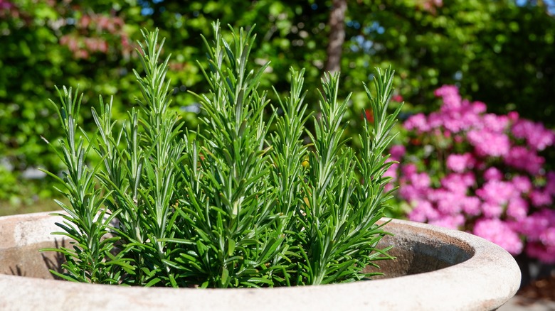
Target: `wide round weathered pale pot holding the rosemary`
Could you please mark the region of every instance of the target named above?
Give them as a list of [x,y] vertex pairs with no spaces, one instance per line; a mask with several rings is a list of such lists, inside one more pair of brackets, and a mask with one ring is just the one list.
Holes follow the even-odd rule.
[[[264,289],[130,288],[53,280],[64,243],[48,213],[0,217],[0,310],[495,310],[517,292],[520,271],[499,246],[461,231],[393,220],[382,243],[386,278]],[[56,240],[56,239],[58,240]]]

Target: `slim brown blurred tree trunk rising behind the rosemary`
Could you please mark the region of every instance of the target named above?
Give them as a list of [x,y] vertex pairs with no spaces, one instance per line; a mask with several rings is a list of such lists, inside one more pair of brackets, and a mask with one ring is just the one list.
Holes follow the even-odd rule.
[[345,12],[347,0],[333,0],[332,11],[329,13],[329,44],[327,45],[327,62],[325,70],[337,72],[341,70],[341,54],[345,42]]

